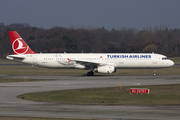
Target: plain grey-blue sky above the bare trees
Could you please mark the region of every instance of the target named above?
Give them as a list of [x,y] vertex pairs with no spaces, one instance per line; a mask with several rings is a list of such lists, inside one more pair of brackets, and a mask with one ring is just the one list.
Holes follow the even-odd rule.
[[0,23],[50,29],[180,28],[180,0],[0,0]]

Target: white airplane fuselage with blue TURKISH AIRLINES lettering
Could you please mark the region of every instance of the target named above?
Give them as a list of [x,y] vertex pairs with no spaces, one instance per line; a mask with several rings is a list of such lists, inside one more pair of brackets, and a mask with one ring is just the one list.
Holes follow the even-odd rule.
[[[18,59],[24,58],[24,59]],[[16,59],[17,58],[17,59]],[[8,55],[23,63],[50,68],[79,68],[87,69],[89,63],[98,66],[111,65],[115,68],[165,68],[174,65],[166,56],[154,53],[52,53]],[[80,62],[79,62],[80,61]],[[89,68],[88,68],[89,69]],[[93,68],[94,69],[94,68]]]

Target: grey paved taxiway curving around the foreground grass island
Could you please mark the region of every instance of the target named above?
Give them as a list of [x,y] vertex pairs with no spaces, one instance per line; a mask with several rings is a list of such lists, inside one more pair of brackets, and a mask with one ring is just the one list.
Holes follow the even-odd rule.
[[[0,78],[24,78],[3,76]],[[53,118],[97,118],[122,120],[179,120],[180,105],[74,105],[33,102],[18,99],[24,93],[80,88],[134,85],[180,84],[180,76],[27,76],[55,81],[0,83],[0,116]]]

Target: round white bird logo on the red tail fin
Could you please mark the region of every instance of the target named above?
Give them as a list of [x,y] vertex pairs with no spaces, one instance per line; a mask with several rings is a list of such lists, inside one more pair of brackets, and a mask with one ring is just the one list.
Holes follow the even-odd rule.
[[28,50],[28,46],[24,43],[22,38],[17,38],[14,40],[12,48],[16,54],[24,54]]

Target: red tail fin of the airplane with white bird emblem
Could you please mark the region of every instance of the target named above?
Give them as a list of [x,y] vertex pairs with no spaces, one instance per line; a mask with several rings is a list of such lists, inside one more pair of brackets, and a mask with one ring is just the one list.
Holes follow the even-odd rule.
[[9,31],[11,39],[12,49],[14,54],[36,54],[31,48],[24,42],[16,31]]

